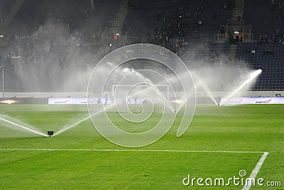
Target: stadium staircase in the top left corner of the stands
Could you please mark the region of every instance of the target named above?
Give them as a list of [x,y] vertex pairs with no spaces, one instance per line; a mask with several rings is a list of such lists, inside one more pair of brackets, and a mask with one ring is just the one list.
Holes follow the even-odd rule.
[[11,3],[9,6],[9,9],[6,13],[6,16],[1,19],[0,22],[0,31],[2,37],[0,37],[0,46],[6,46],[8,41],[9,41],[9,32],[8,32],[8,27],[9,24],[13,21],[15,18],[18,10],[21,8],[21,5],[23,4],[24,0],[15,0]]

